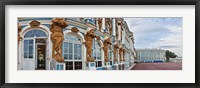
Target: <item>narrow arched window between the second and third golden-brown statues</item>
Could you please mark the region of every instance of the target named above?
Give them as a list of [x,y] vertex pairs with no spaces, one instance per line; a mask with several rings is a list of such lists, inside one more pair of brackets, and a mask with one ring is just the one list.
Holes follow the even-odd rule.
[[95,59],[96,67],[101,67],[102,66],[101,46],[99,45],[96,39],[94,39],[93,41],[92,57]]

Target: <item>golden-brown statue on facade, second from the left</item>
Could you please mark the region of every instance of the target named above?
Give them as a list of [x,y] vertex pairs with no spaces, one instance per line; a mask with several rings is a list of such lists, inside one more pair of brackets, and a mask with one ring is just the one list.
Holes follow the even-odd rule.
[[94,62],[94,58],[92,58],[92,44],[93,44],[94,38],[97,38],[97,40],[100,43],[100,37],[95,35],[94,29],[89,30],[84,35],[84,39],[86,41],[85,47],[87,49],[87,52],[86,52],[86,61],[87,62]]

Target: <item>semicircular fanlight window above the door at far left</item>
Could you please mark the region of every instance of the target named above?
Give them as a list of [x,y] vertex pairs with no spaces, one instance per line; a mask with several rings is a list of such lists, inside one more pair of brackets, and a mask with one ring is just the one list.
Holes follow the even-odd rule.
[[30,30],[25,35],[24,38],[30,38],[30,37],[47,37],[46,33],[42,30]]

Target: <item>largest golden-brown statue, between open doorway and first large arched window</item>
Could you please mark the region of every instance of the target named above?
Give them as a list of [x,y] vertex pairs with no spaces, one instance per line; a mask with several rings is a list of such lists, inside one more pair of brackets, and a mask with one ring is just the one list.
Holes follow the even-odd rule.
[[63,28],[67,27],[68,24],[64,18],[54,18],[50,26],[51,41],[53,42],[52,56],[58,62],[63,62],[62,57],[62,42],[64,40]]

